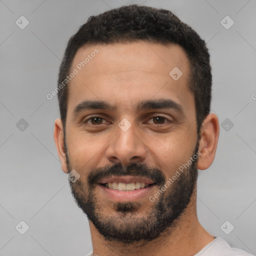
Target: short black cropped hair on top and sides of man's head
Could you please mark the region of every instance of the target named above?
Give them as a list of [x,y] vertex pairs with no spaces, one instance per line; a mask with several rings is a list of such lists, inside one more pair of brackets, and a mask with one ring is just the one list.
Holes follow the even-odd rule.
[[[194,95],[197,134],[209,114],[211,102],[211,67],[206,43],[171,11],[144,5],[124,5],[110,9],[87,22],[68,40],[59,68],[58,84],[70,72],[77,49],[86,43],[109,44],[144,40],[175,43],[181,46],[189,60],[188,89]],[[68,86],[58,91],[60,118],[65,131]]]

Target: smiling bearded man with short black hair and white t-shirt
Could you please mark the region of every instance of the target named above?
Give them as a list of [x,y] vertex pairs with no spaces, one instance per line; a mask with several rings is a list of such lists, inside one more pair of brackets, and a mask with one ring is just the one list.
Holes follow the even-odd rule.
[[196,215],[197,169],[215,156],[205,42],[168,10],[91,16],[59,70],[54,140],[89,220],[88,255],[249,255]]

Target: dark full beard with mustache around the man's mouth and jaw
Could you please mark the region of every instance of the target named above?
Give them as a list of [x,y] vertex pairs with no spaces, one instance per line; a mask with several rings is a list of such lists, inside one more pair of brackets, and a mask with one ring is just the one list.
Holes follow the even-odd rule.
[[[193,155],[198,151],[198,141]],[[72,167],[65,139],[64,145],[67,169],[70,172]],[[83,173],[83,170],[78,172]],[[94,168],[89,172],[85,181],[82,181],[82,178],[77,179],[74,183],[69,180],[69,185],[78,207],[82,209],[88,220],[106,240],[129,244],[142,240],[151,241],[164,235],[164,232],[170,234],[171,230],[178,225],[179,219],[196,189],[197,158],[183,172],[179,173],[177,179],[164,191],[161,191],[157,199],[151,201],[149,206],[146,204],[142,208],[145,210],[143,213],[141,213],[143,206],[141,201],[113,202],[111,207],[114,209],[114,213],[110,213],[97,199],[95,188],[101,178],[111,175],[135,175],[150,178],[160,190],[168,179],[158,168],[136,162],[123,166],[118,162]]]

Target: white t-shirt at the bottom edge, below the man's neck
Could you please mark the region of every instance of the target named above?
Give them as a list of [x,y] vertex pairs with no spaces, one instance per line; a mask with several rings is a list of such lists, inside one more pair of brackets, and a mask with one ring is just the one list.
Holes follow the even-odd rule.
[[[85,256],[93,256],[92,251]],[[220,236],[217,236],[213,241],[205,245],[194,256],[253,256],[248,252],[232,248],[229,244]]]

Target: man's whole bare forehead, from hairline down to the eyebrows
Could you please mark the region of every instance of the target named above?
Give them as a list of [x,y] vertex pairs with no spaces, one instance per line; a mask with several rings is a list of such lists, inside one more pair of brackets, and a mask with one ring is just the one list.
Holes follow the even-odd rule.
[[74,69],[77,74],[68,84],[69,114],[86,99],[109,101],[126,109],[153,97],[171,98],[187,109],[193,105],[188,59],[176,44],[86,44],[73,58],[70,71]]

